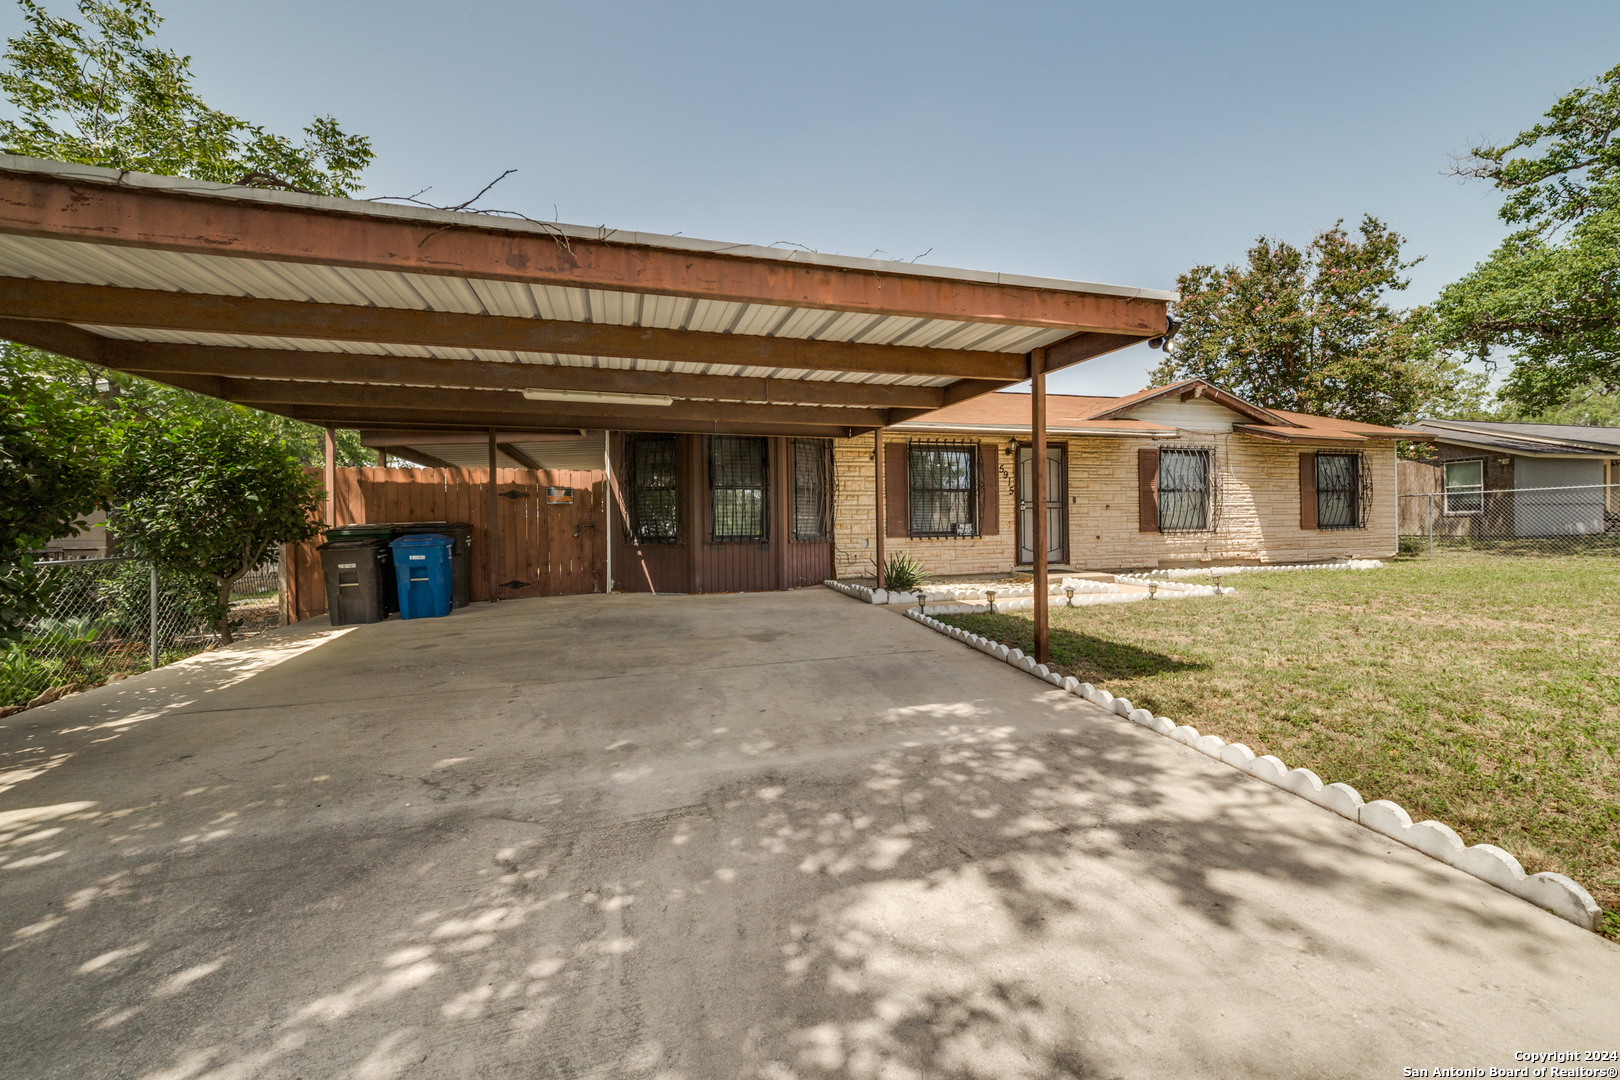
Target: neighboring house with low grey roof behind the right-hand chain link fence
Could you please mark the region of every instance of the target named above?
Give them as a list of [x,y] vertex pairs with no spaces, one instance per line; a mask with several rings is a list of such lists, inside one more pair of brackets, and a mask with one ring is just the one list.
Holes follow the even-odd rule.
[[[1422,458],[1401,461],[1401,494],[1435,494],[1440,533],[1529,538],[1620,528],[1617,427],[1453,419],[1413,427],[1434,445]],[[1427,515],[1422,502],[1405,505],[1403,515]]]

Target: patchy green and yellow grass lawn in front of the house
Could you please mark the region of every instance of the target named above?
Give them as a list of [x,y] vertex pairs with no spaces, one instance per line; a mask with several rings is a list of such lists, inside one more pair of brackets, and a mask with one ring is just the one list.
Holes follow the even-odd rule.
[[[1620,559],[1225,585],[1238,594],[1053,607],[1051,669],[1568,874],[1620,938]],[[1034,648],[1027,612],[943,622]]]

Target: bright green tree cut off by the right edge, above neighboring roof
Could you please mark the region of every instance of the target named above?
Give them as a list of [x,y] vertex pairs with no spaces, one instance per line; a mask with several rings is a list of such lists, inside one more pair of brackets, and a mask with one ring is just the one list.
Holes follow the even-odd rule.
[[1435,311],[1447,343],[1513,363],[1498,397],[1558,408],[1571,393],[1620,393],[1620,65],[1560,97],[1544,123],[1473,147],[1460,176],[1505,194],[1515,232]]

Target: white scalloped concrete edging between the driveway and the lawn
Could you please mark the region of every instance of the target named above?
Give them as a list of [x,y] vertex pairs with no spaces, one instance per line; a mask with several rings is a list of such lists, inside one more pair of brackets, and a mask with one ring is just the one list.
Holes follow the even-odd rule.
[[[831,585],[831,581],[828,585]],[[978,610],[983,610],[983,607]],[[1317,806],[1332,810],[1341,818],[1348,818],[1349,821],[1372,829],[1380,836],[1398,840],[1400,844],[1405,844],[1416,852],[1422,852],[1429,858],[1439,860],[1447,866],[1455,866],[1464,874],[1479,878],[1486,884],[1492,884],[1503,892],[1511,892],[1521,900],[1528,900],[1545,912],[1552,912],[1558,918],[1575,923],[1583,929],[1589,929],[1592,933],[1599,933],[1602,929],[1604,910],[1597,907],[1596,900],[1592,900],[1592,894],[1583,889],[1580,882],[1571,881],[1563,874],[1554,874],[1549,871],[1526,874],[1518,860],[1503,852],[1500,847],[1492,844],[1474,844],[1471,847],[1464,847],[1461,837],[1458,837],[1450,826],[1439,821],[1419,821],[1414,824],[1411,816],[1401,806],[1385,798],[1371,803],[1362,801],[1361,792],[1348,784],[1324,784],[1322,777],[1311,769],[1290,769],[1272,755],[1262,755],[1257,758],[1254,751],[1243,743],[1228,743],[1218,735],[1200,735],[1196,727],[1178,725],[1166,716],[1153,716],[1147,709],[1137,709],[1126,698],[1116,698],[1106,690],[1098,690],[1090,683],[1058,675],[1045,664],[1037,664],[1034,657],[1025,656],[1021,649],[1009,649],[1000,641],[991,641],[956,627],[946,627],[943,622],[922,615],[915,610],[906,612],[906,617],[920,622],[936,633],[943,633],[948,638],[954,638],[967,646],[972,646],[987,656],[1004,661],[1022,672],[1029,672],[1045,683],[1066,690],[1079,698],[1085,698],[1092,704],[1108,709],[1121,719],[1174,738],[1207,758],[1228,764],[1239,772],[1247,772],[1257,780],[1280,787],[1285,792],[1291,792],[1299,798],[1315,803]]]

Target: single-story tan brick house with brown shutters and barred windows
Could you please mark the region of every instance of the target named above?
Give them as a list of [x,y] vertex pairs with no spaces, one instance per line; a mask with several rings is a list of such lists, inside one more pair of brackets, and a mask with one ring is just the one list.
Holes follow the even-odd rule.
[[[988,393],[886,427],[885,544],[935,575],[1034,562],[1030,403]],[[1115,570],[1375,559],[1416,432],[1260,408],[1189,379],[1047,398],[1048,562]],[[614,588],[718,591],[875,573],[876,447],[614,432]],[[779,563],[779,567],[778,567]]]

